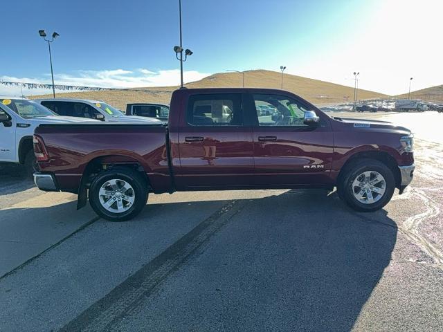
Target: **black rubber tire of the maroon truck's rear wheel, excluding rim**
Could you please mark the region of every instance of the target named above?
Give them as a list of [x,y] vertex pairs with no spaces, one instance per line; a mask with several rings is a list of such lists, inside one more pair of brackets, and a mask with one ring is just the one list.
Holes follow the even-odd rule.
[[[111,212],[103,207],[100,202],[100,188],[107,181],[125,181],[132,187],[134,193],[134,203],[124,212]],[[127,167],[113,167],[105,172],[101,172],[93,179],[89,187],[89,203],[93,210],[104,219],[109,221],[127,221],[134,218],[145,208],[147,202],[147,181],[143,176],[133,169]],[[123,200],[122,200],[123,201]]]

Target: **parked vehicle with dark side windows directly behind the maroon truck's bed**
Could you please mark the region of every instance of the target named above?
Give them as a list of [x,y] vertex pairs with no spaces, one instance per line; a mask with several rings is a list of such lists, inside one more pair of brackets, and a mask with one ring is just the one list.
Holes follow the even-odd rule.
[[109,122],[159,121],[152,118],[145,118],[143,116],[126,116],[125,113],[120,111],[120,109],[116,109],[100,100],[51,98],[36,99],[35,102],[51,109],[51,111],[60,116],[77,116],[80,118]]

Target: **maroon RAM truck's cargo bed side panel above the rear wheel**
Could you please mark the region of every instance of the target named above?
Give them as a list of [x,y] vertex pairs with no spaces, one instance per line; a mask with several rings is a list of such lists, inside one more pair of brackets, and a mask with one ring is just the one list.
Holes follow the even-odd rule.
[[87,167],[112,159],[114,164],[140,165],[152,187],[168,191],[167,131],[161,123],[42,124],[35,134],[43,136],[49,161],[39,163],[39,168],[55,174],[60,190],[77,193]]

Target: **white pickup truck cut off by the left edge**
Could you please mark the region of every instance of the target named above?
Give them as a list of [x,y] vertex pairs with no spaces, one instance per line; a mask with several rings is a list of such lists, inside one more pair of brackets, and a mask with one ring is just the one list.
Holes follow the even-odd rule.
[[58,116],[37,102],[0,96],[0,163],[17,163],[31,176],[35,167],[34,129],[39,124],[97,120]]

